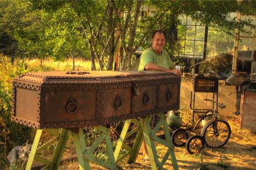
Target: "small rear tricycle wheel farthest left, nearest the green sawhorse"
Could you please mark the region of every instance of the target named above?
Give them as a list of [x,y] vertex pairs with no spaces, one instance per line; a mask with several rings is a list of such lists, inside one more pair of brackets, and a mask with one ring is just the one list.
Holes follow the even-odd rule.
[[179,128],[178,130],[175,130],[171,136],[172,143],[174,144],[174,146],[177,146],[177,147],[185,146],[186,142],[184,141],[188,138],[189,138],[189,134],[186,133],[186,130],[183,128]]

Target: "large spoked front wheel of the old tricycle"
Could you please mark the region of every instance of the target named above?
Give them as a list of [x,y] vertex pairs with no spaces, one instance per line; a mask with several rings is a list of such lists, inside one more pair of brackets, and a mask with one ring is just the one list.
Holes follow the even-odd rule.
[[213,121],[205,128],[203,140],[206,146],[210,148],[219,148],[224,146],[231,134],[230,125],[224,120]]

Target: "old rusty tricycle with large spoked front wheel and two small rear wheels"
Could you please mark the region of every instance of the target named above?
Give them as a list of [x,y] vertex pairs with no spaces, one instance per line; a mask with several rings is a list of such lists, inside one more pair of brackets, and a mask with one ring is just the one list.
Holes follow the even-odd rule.
[[[219,148],[224,146],[231,134],[230,125],[227,121],[219,119],[217,108],[224,109],[226,105],[213,101],[212,99],[204,99],[217,104],[214,110],[207,110],[203,114],[199,114],[199,120],[191,128],[179,128],[175,130],[171,136],[174,146],[182,147],[186,145],[189,154],[200,153],[204,145],[210,148]],[[196,135],[194,131],[200,129],[200,123],[205,124],[201,128],[200,135]],[[189,134],[192,136],[189,138]]]

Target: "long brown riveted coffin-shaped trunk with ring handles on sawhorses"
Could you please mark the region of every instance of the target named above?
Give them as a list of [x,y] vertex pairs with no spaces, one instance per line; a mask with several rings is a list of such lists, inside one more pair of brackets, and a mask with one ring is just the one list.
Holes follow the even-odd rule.
[[179,108],[180,85],[157,71],[26,73],[13,81],[12,121],[76,128],[167,112]]

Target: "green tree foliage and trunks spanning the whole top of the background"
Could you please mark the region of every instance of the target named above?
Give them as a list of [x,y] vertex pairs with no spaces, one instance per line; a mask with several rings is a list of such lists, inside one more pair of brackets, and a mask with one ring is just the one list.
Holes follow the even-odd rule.
[[[177,30],[179,33],[183,29],[176,27],[180,22],[178,16],[189,16],[218,30],[208,34],[216,39],[208,50],[214,52],[221,50],[222,42],[232,44],[222,35],[217,38],[216,32],[233,35],[235,28],[248,32],[255,27],[251,19],[237,24],[236,16],[230,12],[240,10],[242,14],[254,15],[255,6],[256,2],[250,0],[0,1],[0,37],[5,40],[0,40],[0,51],[17,56],[52,57],[57,61],[82,56],[91,58],[93,69],[95,60],[100,69],[112,69],[115,53],[120,52],[121,62],[129,65],[138,47],[146,49],[150,45],[154,29],[167,32],[166,49],[174,56],[174,51],[180,50]],[[197,36],[203,37],[203,31]],[[202,51],[196,45],[196,53]]]

